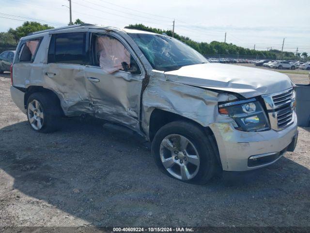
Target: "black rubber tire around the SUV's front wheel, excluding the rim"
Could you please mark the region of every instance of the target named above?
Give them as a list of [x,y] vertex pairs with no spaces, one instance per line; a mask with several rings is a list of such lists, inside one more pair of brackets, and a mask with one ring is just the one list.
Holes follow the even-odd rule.
[[[162,164],[159,152],[160,144],[162,140],[170,134],[185,136],[199,153],[200,166],[197,174],[190,180],[182,180],[172,176]],[[216,158],[218,152],[215,150],[217,150],[217,145],[212,137],[206,135],[206,133],[195,124],[187,121],[168,123],[158,130],[152,141],[152,155],[158,168],[168,176],[186,183],[205,184],[215,175],[219,167]]]

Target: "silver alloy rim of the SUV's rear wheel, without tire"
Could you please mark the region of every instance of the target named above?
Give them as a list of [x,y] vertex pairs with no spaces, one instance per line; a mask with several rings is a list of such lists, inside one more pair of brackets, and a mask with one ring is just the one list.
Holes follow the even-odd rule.
[[41,130],[44,124],[44,110],[38,100],[32,100],[27,108],[28,119],[34,130]]

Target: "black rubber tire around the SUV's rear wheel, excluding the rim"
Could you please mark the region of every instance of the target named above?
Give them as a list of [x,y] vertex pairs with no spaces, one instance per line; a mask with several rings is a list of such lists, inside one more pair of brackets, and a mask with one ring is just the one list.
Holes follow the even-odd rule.
[[[37,130],[34,129],[31,126],[30,120],[29,120],[29,114],[28,114],[28,107],[29,103],[31,103],[33,100],[37,100],[40,105],[42,106],[44,119],[42,123],[42,128]],[[31,129],[33,129],[36,132],[40,133],[52,133],[57,131],[60,128],[60,122],[62,119],[62,109],[60,106],[60,102],[58,98],[51,94],[46,92],[36,92],[30,95],[30,97],[27,100],[27,118],[28,122],[31,126]]]

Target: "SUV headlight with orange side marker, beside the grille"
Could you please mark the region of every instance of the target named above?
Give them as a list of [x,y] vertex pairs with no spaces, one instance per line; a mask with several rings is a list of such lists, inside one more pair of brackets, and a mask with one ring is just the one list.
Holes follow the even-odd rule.
[[220,104],[218,112],[232,117],[237,130],[255,132],[270,129],[263,107],[255,99]]

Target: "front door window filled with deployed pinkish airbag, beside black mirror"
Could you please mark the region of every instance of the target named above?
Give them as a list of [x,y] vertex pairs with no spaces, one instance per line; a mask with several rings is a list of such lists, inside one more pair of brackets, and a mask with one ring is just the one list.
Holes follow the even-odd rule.
[[130,52],[116,38],[109,35],[93,36],[93,65],[106,73],[118,70],[141,74],[140,68]]

